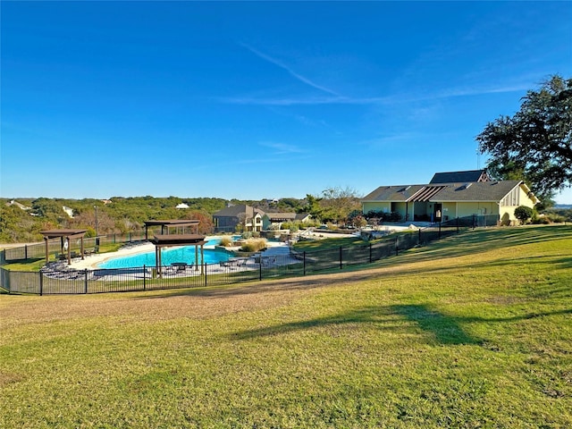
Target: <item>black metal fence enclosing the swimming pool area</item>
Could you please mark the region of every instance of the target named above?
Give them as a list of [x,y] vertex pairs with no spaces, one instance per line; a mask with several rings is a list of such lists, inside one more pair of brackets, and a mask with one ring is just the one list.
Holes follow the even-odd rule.
[[[198,288],[238,282],[252,282],[273,277],[303,276],[325,271],[343,270],[349,265],[366,265],[398,255],[400,251],[475,228],[475,216],[453,219],[431,227],[389,236],[364,245],[328,248],[290,254],[232,258],[228,262],[187,266],[140,266],[130,268],[72,270],[63,263],[50,263],[39,272],[18,272],[0,267],[0,289],[8,293],[87,294],[119,291]],[[123,242],[140,240],[140,236],[113,236],[106,240]],[[52,244],[50,243],[50,246]],[[84,243],[85,245],[85,243]],[[5,250],[5,259],[45,256],[44,245],[38,248]],[[59,243],[57,243],[59,246]],[[59,247],[57,248],[59,250]],[[34,253],[36,252],[36,253]],[[40,256],[40,257],[41,257]]]

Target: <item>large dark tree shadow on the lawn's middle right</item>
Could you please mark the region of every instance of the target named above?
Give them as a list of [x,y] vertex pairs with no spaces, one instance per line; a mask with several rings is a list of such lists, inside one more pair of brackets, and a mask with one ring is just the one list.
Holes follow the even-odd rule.
[[[288,324],[276,324],[248,331],[231,333],[233,340],[248,340],[257,337],[280,335],[283,333],[308,330],[316,327],[327,327],[343,324],[374,324],[380,330],[415,331],[410,324],[413,322],[417,328],[429,333],[431,340],[440,344],[481,344],[483,341],[472,337],[463,330],[459,319],[454,316],[443,315],[425,305],[396,305],[385,307],[365,307],[343,313],[315,319],[300,320]],[[462,319],[460,319],[462,320]]]

